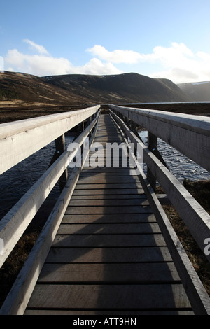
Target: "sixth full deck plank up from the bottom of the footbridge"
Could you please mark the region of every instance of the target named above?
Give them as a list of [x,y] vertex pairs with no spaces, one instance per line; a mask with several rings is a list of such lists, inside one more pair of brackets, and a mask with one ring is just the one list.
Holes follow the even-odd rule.
[[154,223],[154,214],[64,214],[62,223]]

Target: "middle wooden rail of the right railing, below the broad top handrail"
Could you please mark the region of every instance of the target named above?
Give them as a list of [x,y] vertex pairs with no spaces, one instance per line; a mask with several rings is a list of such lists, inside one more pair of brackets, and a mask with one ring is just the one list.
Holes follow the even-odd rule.
[[[122,127],[123,132],[134,143],[135,148],[140,140],[130,130],[127,125],[113,113],[114,118]],[[172,202],[176,210],[179,212],[181,218],[186,223],[188,229],[193,235],[195,241],[204,252],[204,241],[210,237],[210,216],[203,209],[203,207],[194,199],[194,197],[186,190],[186,188],[176,179],[176,177],[169,172],[169,169],[162,164],[160,160],[153,154],[152,151],[141,143],[143,148],[143,159],[146,165],[151,169],[151,172],[159,181],[162,188],[167,193],[169,200]],[[206,255],[210,262],[210,255]]]

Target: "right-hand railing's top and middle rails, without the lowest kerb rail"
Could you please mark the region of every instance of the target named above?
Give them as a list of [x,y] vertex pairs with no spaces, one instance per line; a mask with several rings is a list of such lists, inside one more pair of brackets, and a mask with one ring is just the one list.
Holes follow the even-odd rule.
[[[149,145],[149,141],[148,147],[142,144],[143,161],[146,162],[155,180],[165,190],[191,235],[204,252],[205,247],[210,243],[210,216],[167,169],[159,156],[160,153],[158,153],[157,143],[154,143],[154,139],[159,137],[209,171],[210,118],[113,105],[110,106],[110,109],[123,131],[135,145],[139,143],[139,138],[126,125],[128,121],[132,124],[141,125],[148,130],[148,139],[149,135],[152,134],[152,147]],[[150,177],[148,177],[149,180]],[[152,183],[154,182],[152,181]],[[210,261],[209,253],[205,253],[205,255]]]

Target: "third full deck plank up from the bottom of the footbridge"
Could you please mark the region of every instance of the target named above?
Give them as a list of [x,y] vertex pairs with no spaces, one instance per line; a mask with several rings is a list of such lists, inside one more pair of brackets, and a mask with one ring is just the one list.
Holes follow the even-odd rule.
[[45,263],[171,262],[167,246],[121,248],[51,248]]

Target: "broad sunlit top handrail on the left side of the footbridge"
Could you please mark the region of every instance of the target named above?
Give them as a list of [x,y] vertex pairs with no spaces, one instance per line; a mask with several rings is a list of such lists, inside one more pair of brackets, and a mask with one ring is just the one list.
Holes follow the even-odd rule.
[[2,123],[0,125],[0,174],[97,113],[99,107],[98,105],[78,111]]

